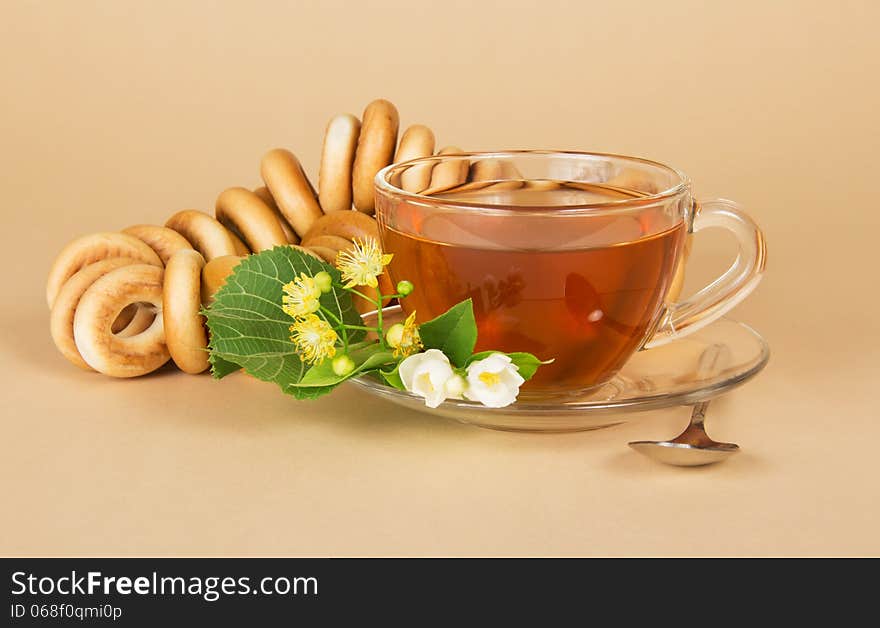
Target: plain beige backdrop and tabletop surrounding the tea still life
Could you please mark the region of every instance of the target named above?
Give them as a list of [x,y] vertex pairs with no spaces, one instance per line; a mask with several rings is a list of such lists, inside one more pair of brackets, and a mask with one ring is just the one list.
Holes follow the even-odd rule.
[[[0,552],[880,554],[878,6],[2,3]],[[744,453],[682,470],[626,447],[684,408],[507,434],[56,353],[43,286],[66,241],[210,209],[274,146],[314,175],[327,119],[380,96],[441,144],[639,154],[742,202],[770,259],[736,316],[773,358],[709,427]]]

